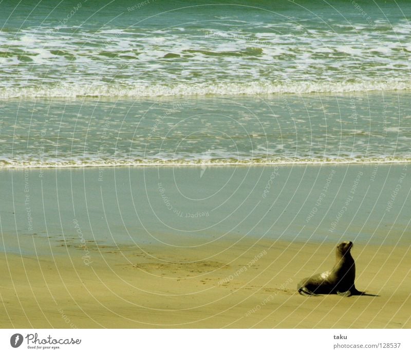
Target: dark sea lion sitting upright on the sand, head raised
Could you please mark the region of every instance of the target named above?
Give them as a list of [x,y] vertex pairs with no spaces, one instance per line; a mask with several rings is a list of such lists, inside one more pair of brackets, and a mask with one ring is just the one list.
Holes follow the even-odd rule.
[[356,289],[356,264],[351,256],[351,241],[342,242],[335,250],[336,261],[331,271],[315,274],[297,285],[302,295],[339,294],[341,296],[363,295]]

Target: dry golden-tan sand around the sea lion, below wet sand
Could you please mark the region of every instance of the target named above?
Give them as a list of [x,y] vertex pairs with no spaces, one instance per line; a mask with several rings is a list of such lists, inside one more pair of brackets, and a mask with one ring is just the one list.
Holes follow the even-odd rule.
[[330,269],[335,245],[249,239],[215,241],[207,252],[88,245],[88,266],[84,250],[67,242],[67,256],[2,254],[0,327],[411,327],[406,247],[354,244],[356,286],[378,296],[306,297],[298,281]]

